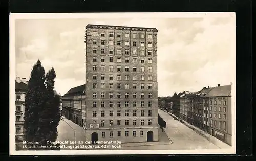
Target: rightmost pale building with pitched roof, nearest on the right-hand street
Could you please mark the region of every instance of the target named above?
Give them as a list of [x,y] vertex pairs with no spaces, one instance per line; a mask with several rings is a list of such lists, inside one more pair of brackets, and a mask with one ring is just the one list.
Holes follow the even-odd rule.
[[231,145],[231,85],[218,84],[205,97],[209,98],[210,134]]

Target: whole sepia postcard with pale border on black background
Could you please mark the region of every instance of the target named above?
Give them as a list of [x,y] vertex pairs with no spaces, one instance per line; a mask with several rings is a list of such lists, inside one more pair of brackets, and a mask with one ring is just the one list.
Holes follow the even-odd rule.
[[236,153],[236,15],[10,14],[10,155]]

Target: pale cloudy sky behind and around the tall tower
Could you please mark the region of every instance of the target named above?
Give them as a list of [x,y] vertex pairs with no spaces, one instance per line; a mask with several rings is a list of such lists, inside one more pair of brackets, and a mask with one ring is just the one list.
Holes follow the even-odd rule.
[[55,90],[64,95],[85,82],[87,24],[158,29],[158,96],[230,84],[234,17],[125,17],[16,19],[16,75],[30,77],[39,59],[55,69]]

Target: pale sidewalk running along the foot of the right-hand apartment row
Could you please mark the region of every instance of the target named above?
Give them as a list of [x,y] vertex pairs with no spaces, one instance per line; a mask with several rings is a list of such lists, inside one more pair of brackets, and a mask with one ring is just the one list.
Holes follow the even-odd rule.
[[[162,110],[162,109],[161,109]],[[170,116],[174,117],[174,118],[178,118],[176,117],[174,114],[168,112],[168,111],[165,111],[163,110],[164,112],[168,113]],[[191,125],[189,124],[188,122],[182,120],[182,123],[184,125],[186,125],[188,128],[192,129],[193,131],[195,131],[196,133],[198,133],[199,135],[205,137],[207,140],[209,140],[212,144],[218,146],[219,148],[221,149],[229,149],[231,148],[231,146],[229,146],[228,144],[222,142],[221,140],[217,139],[216,137],[210,135],[209,133],[199,129],[198,127],[194,126],[194,125]]]

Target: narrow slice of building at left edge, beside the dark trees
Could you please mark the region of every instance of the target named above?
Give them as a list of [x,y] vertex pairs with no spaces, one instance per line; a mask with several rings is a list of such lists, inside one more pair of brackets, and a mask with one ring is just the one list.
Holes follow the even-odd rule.
[[25,113],[25,96],[28,90],[28,81],[26,78],[17,77],[15,80],[15,140],[16,142],[24,141],[24,113]]

